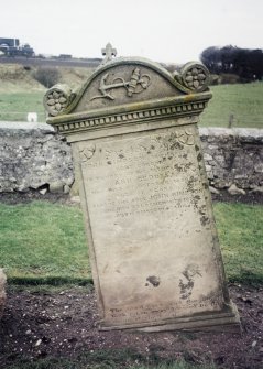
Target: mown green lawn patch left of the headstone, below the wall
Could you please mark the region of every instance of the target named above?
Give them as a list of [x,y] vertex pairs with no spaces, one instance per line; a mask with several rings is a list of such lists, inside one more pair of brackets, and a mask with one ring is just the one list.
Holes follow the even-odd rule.
[[81,211],[36,202],[0,205],[0,260],[9,282],[87,283],[90,280]]

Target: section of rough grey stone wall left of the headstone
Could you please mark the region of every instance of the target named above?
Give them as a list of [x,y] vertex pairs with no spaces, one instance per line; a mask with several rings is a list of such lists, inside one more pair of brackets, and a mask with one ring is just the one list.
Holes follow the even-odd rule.
[[63,192],[73,181],[70,146],[52,128],[0,122],[0,192],[52,187],[54,183]]

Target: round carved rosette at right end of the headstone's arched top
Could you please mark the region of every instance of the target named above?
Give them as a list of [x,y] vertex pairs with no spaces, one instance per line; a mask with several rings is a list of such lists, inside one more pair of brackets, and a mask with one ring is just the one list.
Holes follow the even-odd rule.
[[209,85],[209,70],[202,64],[187,63],[182,69],[182,79],[187,88],[200,93]]

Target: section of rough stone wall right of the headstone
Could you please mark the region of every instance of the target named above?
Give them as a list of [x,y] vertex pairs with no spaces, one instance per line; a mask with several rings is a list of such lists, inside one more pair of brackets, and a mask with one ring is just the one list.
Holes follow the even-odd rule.
[[263,186],[263,129],[199,131],[207,175],[213,187],[229,188],[234,184],[248,191]]

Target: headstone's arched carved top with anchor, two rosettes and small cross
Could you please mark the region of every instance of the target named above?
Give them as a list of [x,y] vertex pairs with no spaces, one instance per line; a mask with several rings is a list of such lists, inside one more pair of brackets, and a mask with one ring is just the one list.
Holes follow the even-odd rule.
[[201,64],[187,63],[179,73],[172,75],[158,64],[144,58],[109,59],[109,55],[116,54],[110,46],[105,48],[105,53],[107,61],[78,90],[73,91],[67,85],[61,84],[47,90],[44,106],[50,117],[73,118],[75,113],[123,104],[135,108],[136,102],[160,98],[177,97],[190,101],[208,100],[211,96],[208,89],[209,72]]

